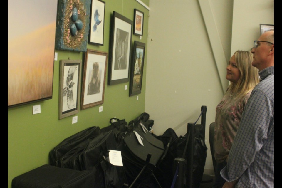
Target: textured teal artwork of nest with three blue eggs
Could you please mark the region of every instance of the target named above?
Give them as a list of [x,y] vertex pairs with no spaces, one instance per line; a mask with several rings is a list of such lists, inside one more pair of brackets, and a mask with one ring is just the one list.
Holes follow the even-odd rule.
[[86,51],[90,0],[59,0],[56,25],[57,50]]

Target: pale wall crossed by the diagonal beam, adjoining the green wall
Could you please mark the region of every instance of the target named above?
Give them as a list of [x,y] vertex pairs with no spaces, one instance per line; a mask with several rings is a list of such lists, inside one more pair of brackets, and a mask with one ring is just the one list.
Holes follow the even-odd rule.
[[[228,60],[232,5],[226,0],[211,3]],[[206,105],[206,168],[213,169],[208,132],[223,91],[198,1],[151,0],[147,47],[145,111],[155,120],[154,133],[171,127],[184,135],[187,123],[195,122]]]

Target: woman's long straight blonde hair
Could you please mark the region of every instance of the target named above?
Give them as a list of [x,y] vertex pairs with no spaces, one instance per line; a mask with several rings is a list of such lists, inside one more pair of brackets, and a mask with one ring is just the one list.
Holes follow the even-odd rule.
[[258,69],[252,66],[253,54],[250,51],[238,50],[234,54],[241,76],[237,84],[230,83],[225,95],[232,94],[235,95],[236,99],[240,99],[259,83],[259,73]]

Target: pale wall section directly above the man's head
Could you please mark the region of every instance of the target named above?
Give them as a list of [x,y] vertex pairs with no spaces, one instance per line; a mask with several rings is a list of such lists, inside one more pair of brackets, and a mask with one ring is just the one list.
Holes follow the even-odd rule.
[[231,53],[251,50],[260,36],[259,24],[274,24],[273,0],[234,0]]

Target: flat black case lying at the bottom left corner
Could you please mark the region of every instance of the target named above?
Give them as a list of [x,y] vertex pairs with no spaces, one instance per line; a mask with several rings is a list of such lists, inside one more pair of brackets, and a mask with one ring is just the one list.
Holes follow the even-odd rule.
[[101,180],[95,171],[78,171],[45,164],[12,180],[12,188],[91,188]]

